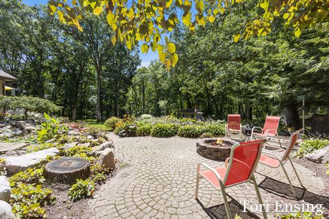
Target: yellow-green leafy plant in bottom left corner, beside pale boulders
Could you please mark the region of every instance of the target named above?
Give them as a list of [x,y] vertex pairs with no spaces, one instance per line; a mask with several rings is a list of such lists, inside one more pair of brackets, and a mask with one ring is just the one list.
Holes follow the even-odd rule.
[[19,183],[12,188],[10,204],[16,218],[44,218],[42,207],[55,201],[52,190],[42,185]]

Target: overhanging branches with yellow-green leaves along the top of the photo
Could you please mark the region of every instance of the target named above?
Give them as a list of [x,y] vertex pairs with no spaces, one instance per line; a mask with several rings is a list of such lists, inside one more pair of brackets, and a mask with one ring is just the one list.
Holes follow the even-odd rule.
[[[167,38],[165,43],[161,42],[163,31],[172,31],[180,22],[190,31],[195,31],[196,25],[205,26],[206,21],[212,23],[219,14],[230,12],[230,5],[245,2],[247,1],[163,0],[131,3],[119,0],[49,0],[49,12],[57,14],[62,23],[75,25],[82,30],[82,12],[99,15],[105,9],[108,24],[115,32],[113,43],[125,40],[127,47],[132,48],[141,40],[144,42],[141,45],[143,53],[147,53],[149,47],[158,51],[160,60],[169,68],[175,66],[178,55],[175,53],[175,45]],[[284,27],[292,24],[297,37],[302,29],[315,27],[328,19],[329,2],[326,0],[260,0],[257,6],[263,9],[263,15],[247,21],[243,31],[245,39],[255,35],[266,36],[271,31],[274,18],[284,18],[287,21]],[[183,12],[181,18],[176,13],[178,11]],[[240,37],[241,34],[235,34],[234,41],[238,41]]]

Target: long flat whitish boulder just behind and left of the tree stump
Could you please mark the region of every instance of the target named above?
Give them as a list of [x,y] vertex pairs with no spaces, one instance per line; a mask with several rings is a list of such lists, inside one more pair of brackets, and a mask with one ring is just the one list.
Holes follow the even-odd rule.
[[5,168],[11,173],[17,173],[32,168],[45,159],[48,155],[58,155],[60,151],[56,148],[28,153],[19,157],[8,157],[5,160]]

